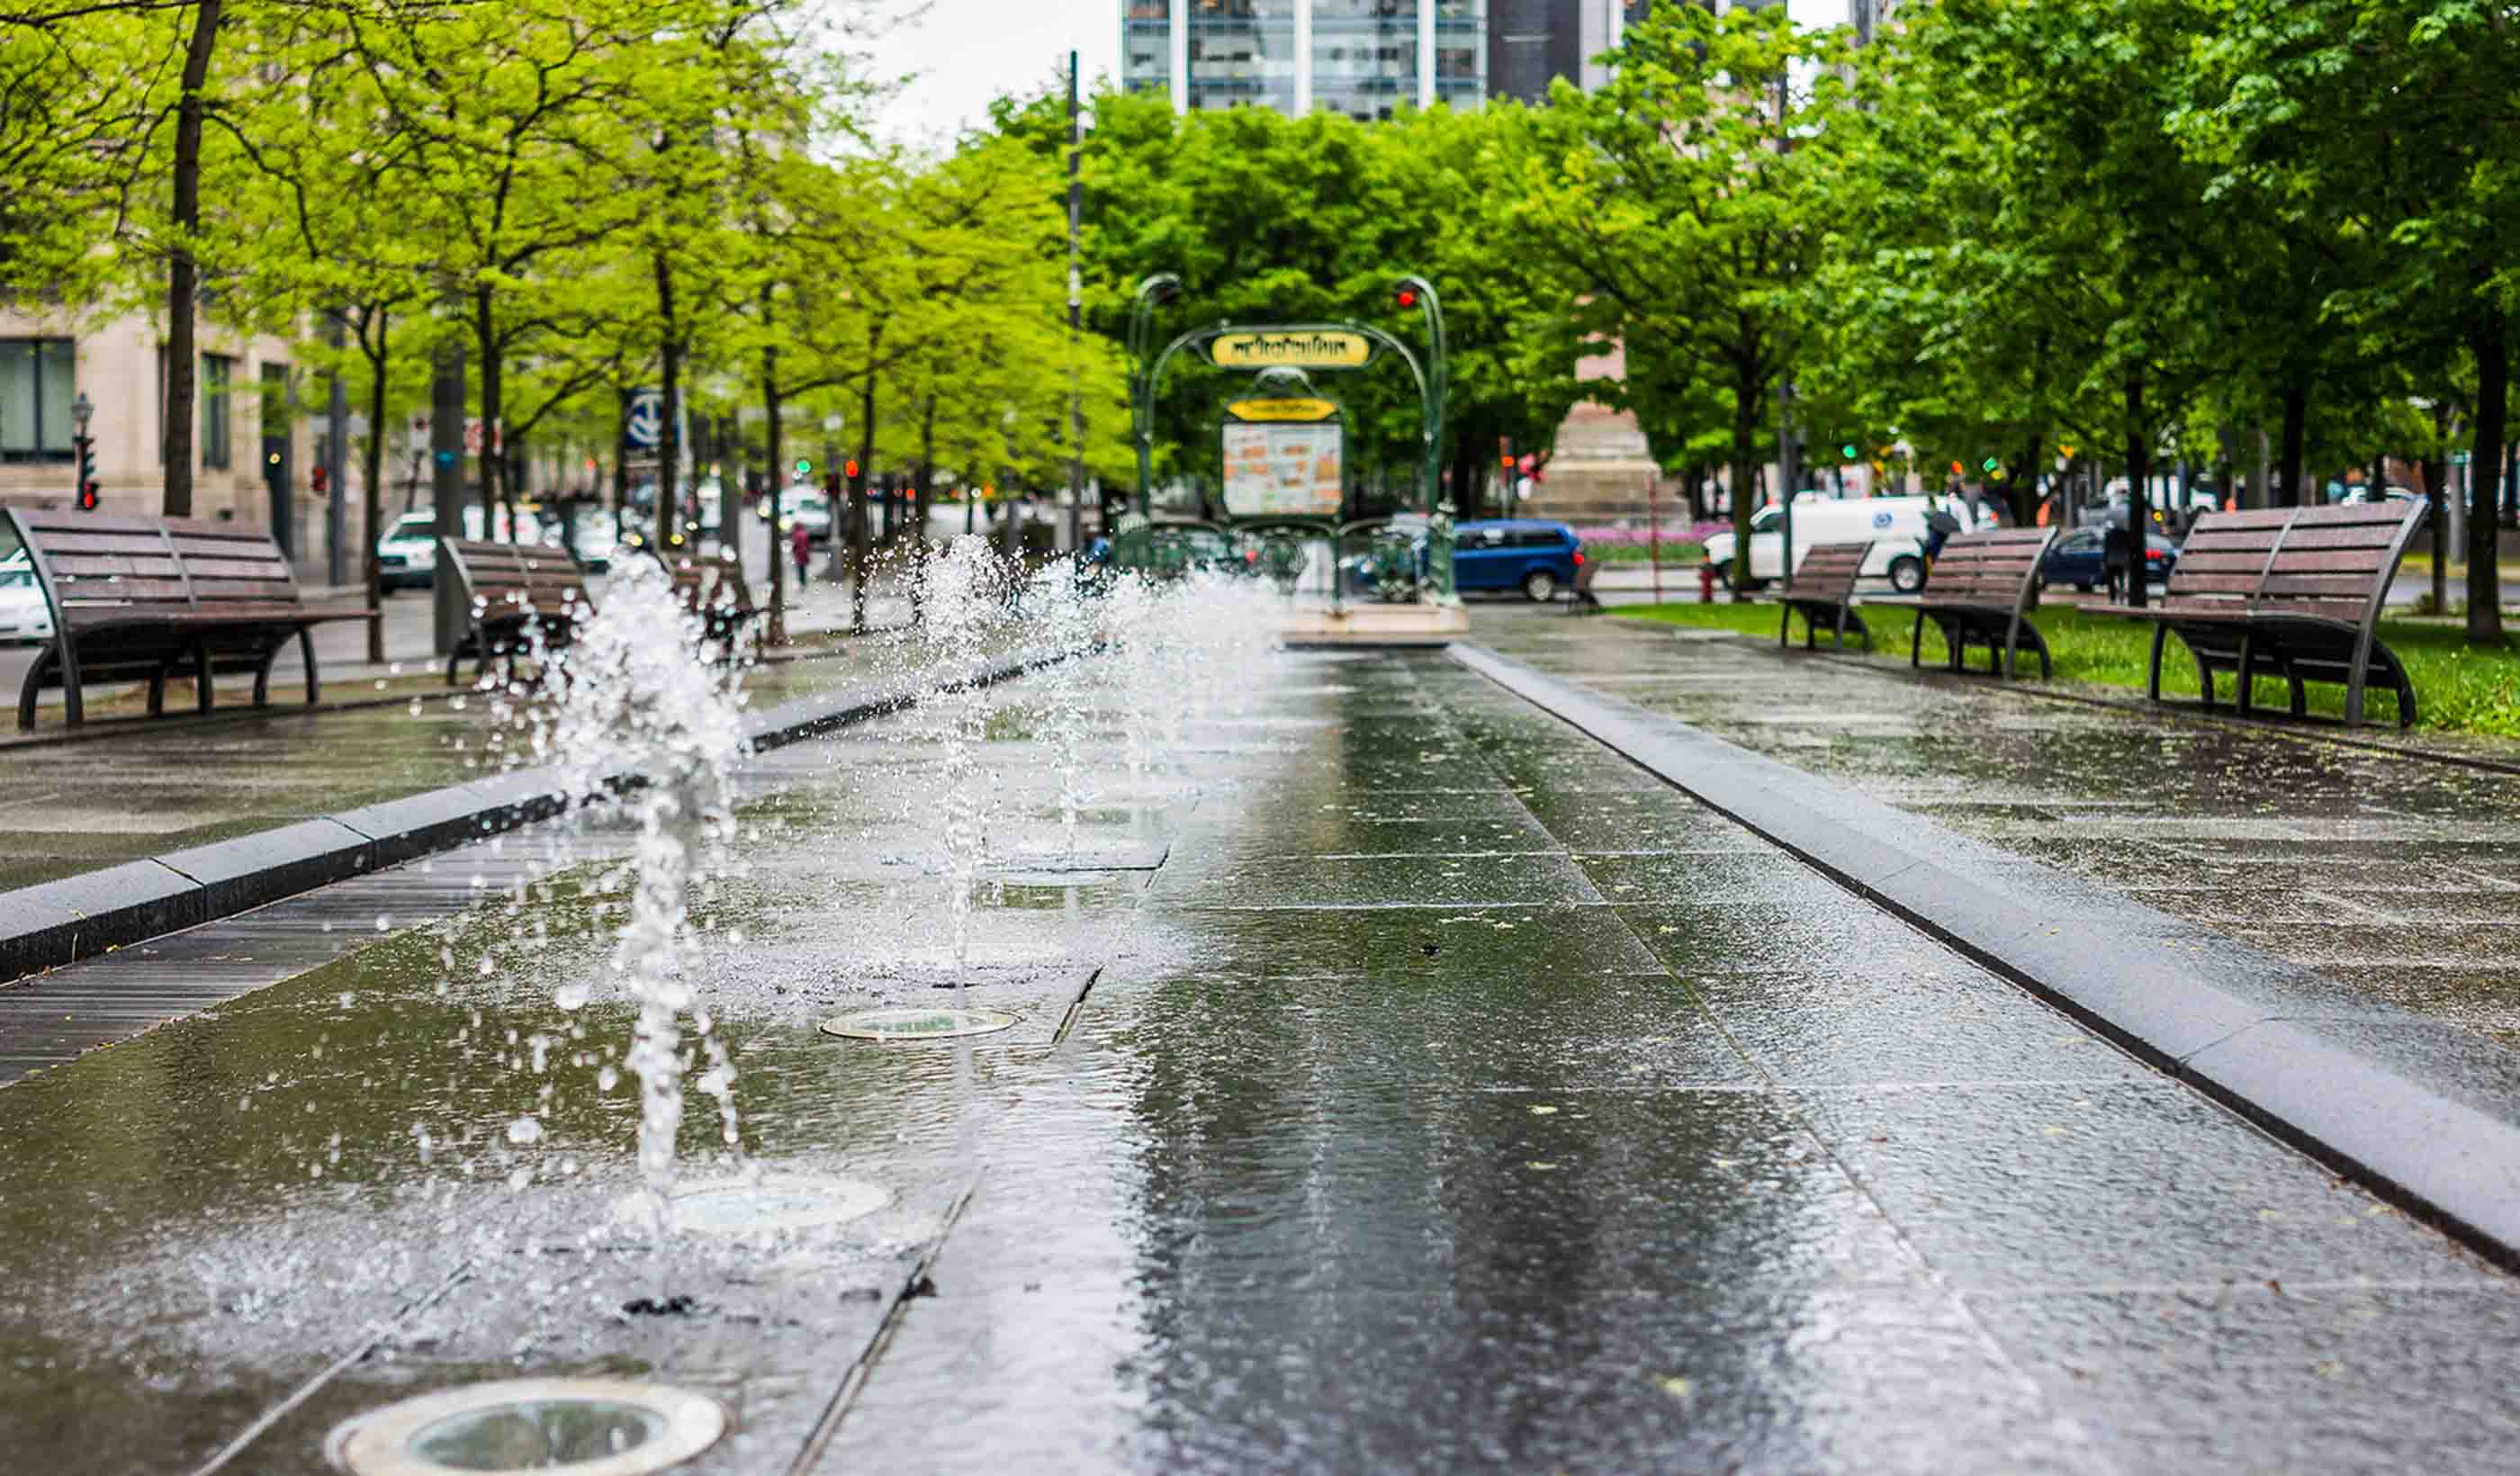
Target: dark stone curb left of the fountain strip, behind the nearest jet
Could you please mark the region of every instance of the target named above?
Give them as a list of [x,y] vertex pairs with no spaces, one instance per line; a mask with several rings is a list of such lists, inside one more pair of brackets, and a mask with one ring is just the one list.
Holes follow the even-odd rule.
[[[983,688],[1021,678],[1056,657],[1016,655],[983,667]],[[794,698],[746,713],[756,751],[784,748],[834,728],[917,705],[915,680],[859,683],[819,698]],[[610,786],[638,783],[633,773]],[[315,816],[209,846],[123,861],[0,892],[0,982],[96,957],[360,871],[446,851],[481,836],[549,819],[567,809],[554,768],[519,768],[363,809]]]

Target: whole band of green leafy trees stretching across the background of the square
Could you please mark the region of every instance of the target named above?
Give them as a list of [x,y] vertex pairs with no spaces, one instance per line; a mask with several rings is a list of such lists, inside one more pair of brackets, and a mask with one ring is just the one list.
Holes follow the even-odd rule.
[[[1716,481],[1759,489],[1792,385],[1809,461],[1900,446],[2016,516],[2170,466],[2281,506],[2407,463],[2434,579],[2465,567],[2442,602],[2502,637],[2520,23],[2500,8],[1935,0],[1857,48],[1784,8],[1666,0],[1605,88],[1537,108],[1177,118],[1104,93],[1081,348],[1063,98],[882,149],[854,55],[879,23],[703,0],[0,18],[5,275],[161,320],[169,511],[197,305],[318,343],[338,320],[370,423],[461,345],[509,451],[610,458],[635,385],[759,408],[759,466],[791,461],[791,416],[839,413],[864,496],[877,468],[1063,484],[1071,370],[1089,466],[1124,481],[1119,345],[1149,272],[1179,272],[1177,312],[1205,322],[1386,317],[1414,270],[1444,290],[1464,509],[1492,506],[1499,451],[1545,453],[1570,406],[1610,398],[1704,511]],[[1610,343],[1623,378],[1580,383]],[[1338,388],[1368,491],[1406,486],[1404,385]],[[1167,385],[1162,479],[1217,471],[1215,398]],[[484,496],[519,491],[512,461],[484,451]],[[2462,549],[2452,486],[2487,509],[2457,519]]]

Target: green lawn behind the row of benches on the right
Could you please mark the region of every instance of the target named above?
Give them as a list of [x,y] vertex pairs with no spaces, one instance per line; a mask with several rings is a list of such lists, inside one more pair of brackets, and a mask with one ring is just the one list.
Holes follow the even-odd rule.
[[[1857,605],[1857,610],[1862,610]],[[1777,640],[1774,605],[1630,605],[1618,610],[1630,620],[1658,620],[1663,625],[1696,625],[1711,630],[1739,630],[1764,640]],[[1915,615],[1882,610],[1872,617],[1872,660],[1908,660],[1908,635]],[[2056,680],[2094,683],[2104,688],[2145,690],[2145,667],[2152,657],[2152,630],[2134,620],[2109,620],[2049,605],[2034,615],[2049,652],[2056,657]],[[2409,625],[2381,620],[2379,635],[2389,650],[2407,662],[2414,678],[2417,728],[2439,733],[2482,733],[2495,738],[2520,738],[2520,647],[2482,650],[2467,645],[2454,627]],[[1794,617],[1794,642],[1802,645],[1802,617]],[[1819,645],[1830,637],[1822,632]],[[1850,642],[1850,650],[1860,650]],[[1933,622],[1925,622],[1925,662],[1940,665],[1945,647]],[[1983,665],[1986,655],[1971,650],[1971,662]],[[2036,678],[2036,657],[2029,657]],[[2223,700],[2230,700],[2230,678],[2218,678]],[[2195,662],[2187,647],[2170,637],[2162,660],[2165,695],[2197,695]],[[2258,703],[2286,710],[2291,695],[2278,680],[2258,680]],[[2344,713],[2344,688],[2311,688],[2311,710],[2326,715]],[[2366,718],[2386,720],[2397,715],[2397,695],[2374,690]]]

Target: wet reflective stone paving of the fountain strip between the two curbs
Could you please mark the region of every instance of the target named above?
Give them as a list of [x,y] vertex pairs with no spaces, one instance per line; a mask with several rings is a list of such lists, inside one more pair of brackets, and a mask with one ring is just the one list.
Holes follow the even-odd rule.
[[[844,1227],[610,1229],[627,1015],[544,1002],[602,864],[0,1093],[0,1441],[320,1471],[610,1370],[728,1403],[693,1471],[2505,1461],[2520,1297],[2444,1237],[1441,655],[1252,688],[1076,851],[1000,688],[963,970],[932,743],[764,756],[698,982],[766,1171],[890,1196]],[[1021,1025],[814,1033],[958,977]]]

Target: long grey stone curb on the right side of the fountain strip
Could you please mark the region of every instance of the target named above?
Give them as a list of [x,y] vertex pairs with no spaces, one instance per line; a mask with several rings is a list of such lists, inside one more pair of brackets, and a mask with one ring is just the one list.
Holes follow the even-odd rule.
[[[2452,1030],[2119,892],[1479,645],[1452,660],[2278,1138],[2520,1267],[2520,1123],[2323,1033]],[[2482,1048],[2482,1043],[2480,1043]]]

